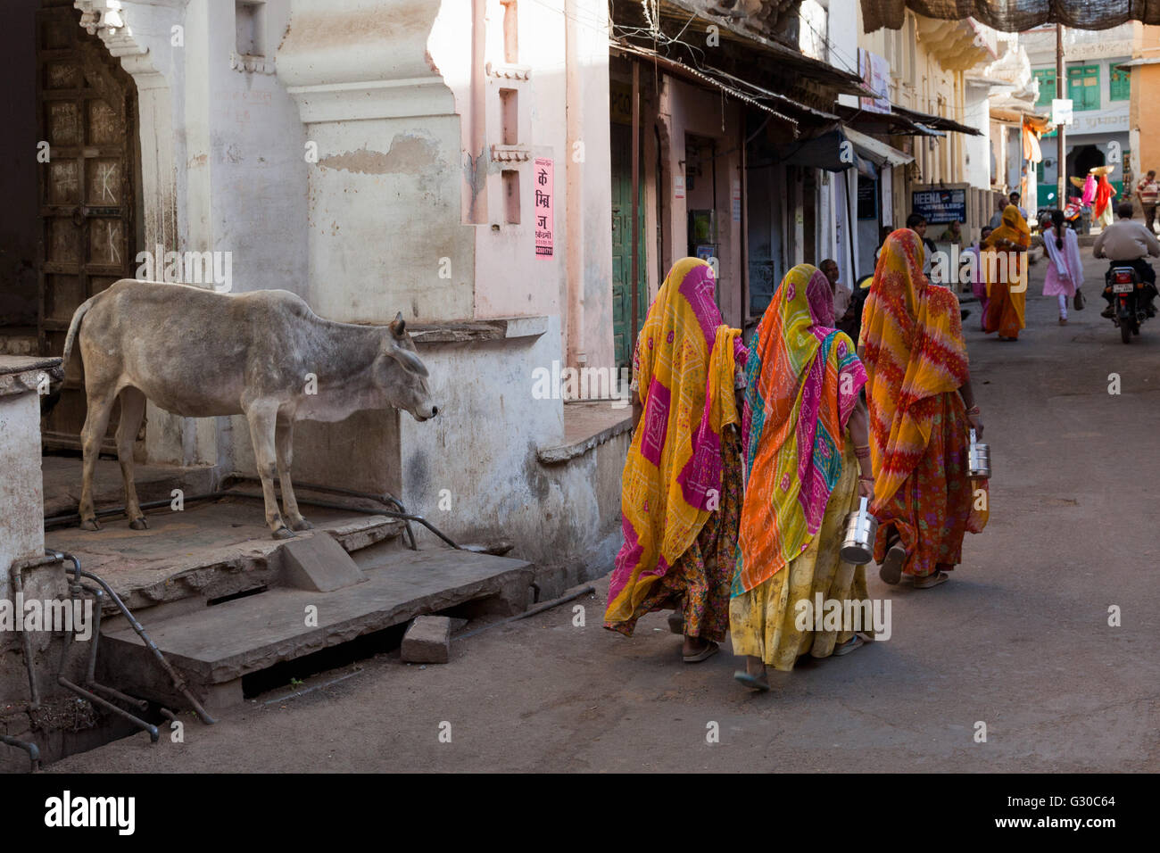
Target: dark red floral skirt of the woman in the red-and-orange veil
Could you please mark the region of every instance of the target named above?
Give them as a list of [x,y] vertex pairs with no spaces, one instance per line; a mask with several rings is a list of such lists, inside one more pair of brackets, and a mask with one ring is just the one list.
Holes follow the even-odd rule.
[[970,424],[957,391],[943,395],[918,467],[877,513],[875,559],[886,556],[886,542],[897,532],[906,549],[905,574],[925,578],[937,564],[963,559],[963,537],[981,533],[989,514],[986,480],[972,480],[967,460]]

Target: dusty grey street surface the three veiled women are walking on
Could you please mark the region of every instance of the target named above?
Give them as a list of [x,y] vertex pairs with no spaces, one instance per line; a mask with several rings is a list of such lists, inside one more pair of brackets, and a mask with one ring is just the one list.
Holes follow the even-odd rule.
[[[1000,344],[972,306],[991,525],[942,587],[872,576],[871,594],[892,601],[887,642],[751,695],[727,650],[683,664],[661,614],[632,639],[603,630],[601,583],[575,602],[587,627],[567,605],[456,642],[444,666],[384,656],[212,728],[190,720],[183,744],[139,735],[50,769],[1155,771],[1160,321],[1121,344],[1099,317],[1102,265],[1088,268],[1089,306],[1066,328],[1054,299],[1032,296],[1029,328]],[[1032,294],[1042,275],[1041,262]],[[1112,605],[1122,627],[1108,626]]]

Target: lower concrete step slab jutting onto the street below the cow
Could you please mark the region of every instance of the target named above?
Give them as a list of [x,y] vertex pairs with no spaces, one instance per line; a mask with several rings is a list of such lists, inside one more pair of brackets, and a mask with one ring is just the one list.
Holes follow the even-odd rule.
[[[522,559],[432,548],[399,551],[367,570],[367,578],[333,592],[278,587],[195,613],[142,621],[194,693],[208,695],[211,685],[467,601],[491,599],[496,612],[522,612],[532,566]],[[130,628],[102,631],[101,670],[104,682],[118,689],[183,704]]]

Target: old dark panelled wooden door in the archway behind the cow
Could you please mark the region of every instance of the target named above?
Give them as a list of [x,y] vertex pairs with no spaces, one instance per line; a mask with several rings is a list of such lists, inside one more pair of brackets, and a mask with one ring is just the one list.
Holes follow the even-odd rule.
[[[133,276],[136,88],[71,0],[42,0],[36,14],[39,138],[39,349],[61,355],[73,311]],[[60,402],[43,424],[46,447],[79,447],[85,377],[75,350]],[[110,418],[109,434],[116,427]],[[106,447],[111,449],[111,439]]]

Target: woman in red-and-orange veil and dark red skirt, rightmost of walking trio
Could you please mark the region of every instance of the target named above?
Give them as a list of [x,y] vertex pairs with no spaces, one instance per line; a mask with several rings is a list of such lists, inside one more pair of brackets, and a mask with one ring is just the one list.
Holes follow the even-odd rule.
[[[1017,212],[1017,211],[1016,211]],[[986,483],[972,480],[969,431],[983,434],[958,301],[922,275],[922,241],[907,229],[883,246],[862,315],[878,518],[879,576],[926,590],[962,562],[963,536],[987,520]]]

